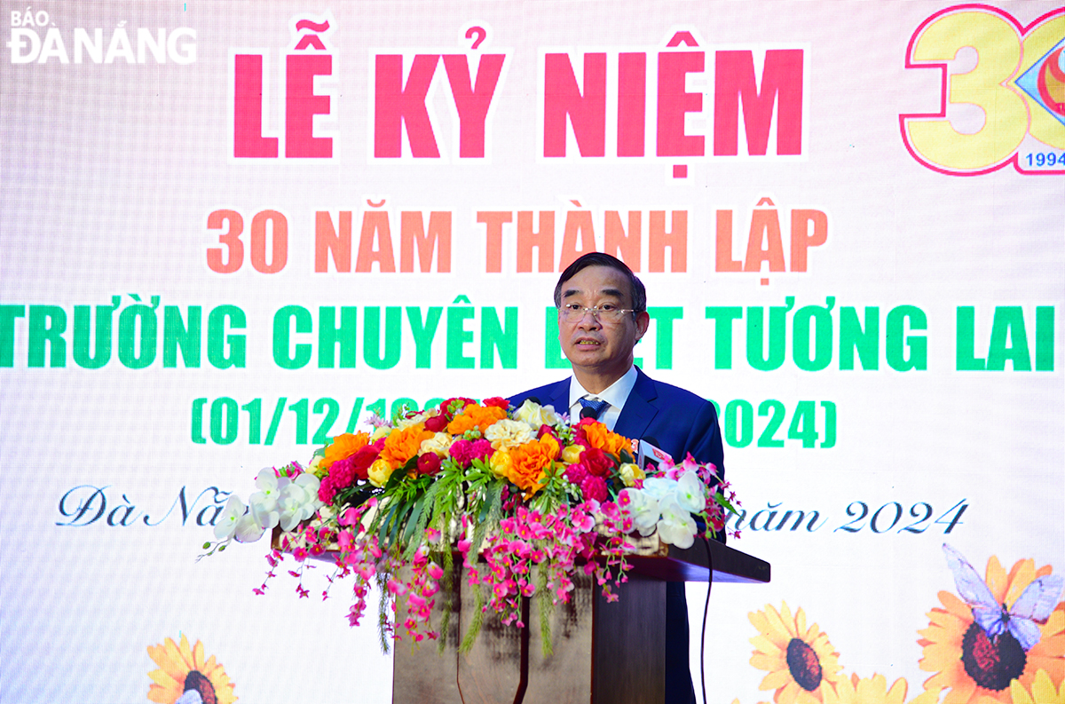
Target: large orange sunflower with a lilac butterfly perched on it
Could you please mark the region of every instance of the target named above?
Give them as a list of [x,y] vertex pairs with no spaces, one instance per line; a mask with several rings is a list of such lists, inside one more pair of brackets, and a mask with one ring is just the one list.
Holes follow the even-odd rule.
[[[1006,574],[994,555],[987,560],[984,582],[1006,609],[1036,578],[1049,575],[1051,567],[1035,569],[1031,559],[1020,560]],[[943,704],[982,704],[985,701],[1012,704],[1013,683],[1032,691],[1036,672],[1061,686],[1065,677],[1065,602],[1059,603],[1046,622],[1036,622],[1039,639],[1025,650],[1009,631],[990,637],[976,623],[972,608],[948,591],[939,592],[944,608],[929,611],[929,625],[918,633],[923,648],[919,666],[935,674],[924,681],[924,689],[949,689]],[[1030,701],[1030,700],[1028,700]]]

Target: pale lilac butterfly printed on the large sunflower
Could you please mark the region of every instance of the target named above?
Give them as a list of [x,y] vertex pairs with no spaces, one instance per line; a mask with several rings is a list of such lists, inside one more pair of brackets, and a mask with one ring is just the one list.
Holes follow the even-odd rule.
[[987,584],[960,552],[947,543],[943,544],[943,552],[947,554],[947,566],[954,573],[957,593],[972,607],[972,618],[987,637],[996,640],[1009,631],[1026,653],[1032,650],[1043,636],[1035,623],[1050,618],[1065,578],[1060,574],[1036,577],[1007,609],[1004,603],[995,601]]

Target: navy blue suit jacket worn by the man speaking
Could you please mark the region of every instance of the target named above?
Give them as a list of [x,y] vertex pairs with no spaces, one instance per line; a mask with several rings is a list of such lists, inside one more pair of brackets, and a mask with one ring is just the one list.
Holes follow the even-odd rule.
[[[690,391],[655,381],[636,367],[636,384],[621,409],[615,432],[626,438],[648,439],[679,462],[688,453],[701,463],[712,462],[724,478],[721,429],[714,404]],[[526,398],[554,406],[564,413],[570,407],[570,379],[530,389],[510,397],[514,407]],[[724,536],[719,536],[724,540]],[[688,668],[688,602],[684,583],[666,584],[666,704],[694,704],[695,691]]]

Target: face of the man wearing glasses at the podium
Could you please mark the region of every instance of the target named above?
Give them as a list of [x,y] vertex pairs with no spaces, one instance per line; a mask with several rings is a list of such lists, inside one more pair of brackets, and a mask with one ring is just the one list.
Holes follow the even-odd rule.
[[[561,302],[563,308],[574,304],[586,308],[606,304],[632,308],[630,296],[628,280],[621,272],[609,266],[588,266],[562,283]],[[648,323],[646,312],[637,315],[636,320],[628,313],[617,323],[602,321],[591,313],[567,323],[560,314],[558,341],[578,378],[583,373],[603,379],[609,386],[633,365],[633,347],[648,331]]]

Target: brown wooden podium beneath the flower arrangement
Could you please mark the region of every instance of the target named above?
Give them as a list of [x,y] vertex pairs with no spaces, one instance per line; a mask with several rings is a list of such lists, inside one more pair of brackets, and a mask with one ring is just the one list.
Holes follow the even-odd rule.
[[[393,704],[661,704],[666,583],[707,582],[711,561],[714,582],[769,582],[768,562],[716,541],[709,555],[702,541],[688,550],[665,547],[628,558],[634,569],[616,603],[603,599],[592,577],[575,579],[569,604],[556,605],[551,617],[550,657],[543,655],[536,599],[524,601],[525,628],[486,613],[477,642],[459,655],[459,634],[474,609],[460,591],[441,634],[443,654],[435,642],[395,643]],[[460,569],[456,562],[456,584],[462,584]],[[397,621],[405,618],[397,615]]]

